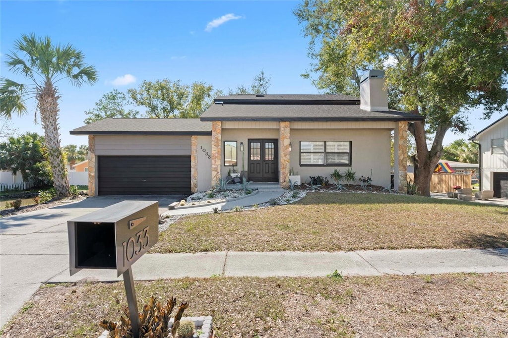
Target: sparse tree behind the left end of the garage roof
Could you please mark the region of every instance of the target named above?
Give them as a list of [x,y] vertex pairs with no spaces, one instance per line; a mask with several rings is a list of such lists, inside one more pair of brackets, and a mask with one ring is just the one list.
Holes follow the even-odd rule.
[[139,115],[139,111],[127,107],[132,106],[132,100],[117,89],[102,95],[95,108],[85,112],[88,117],[83,121],[86,124],[100,121],[109,117],[132,119]]

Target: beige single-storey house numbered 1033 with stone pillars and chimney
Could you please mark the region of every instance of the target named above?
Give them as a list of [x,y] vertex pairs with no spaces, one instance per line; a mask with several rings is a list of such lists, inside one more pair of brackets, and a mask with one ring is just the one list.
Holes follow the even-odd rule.
[[388,109],[384,72],[362,77],[361,98],[345,95],[229,95],[199,119],[105,119],[71,131],[88,135],[89,194],[188,194],[228,170],[249,181],[289,184],[291,168],[308,182],[352,168],[404,190],[407,122]]

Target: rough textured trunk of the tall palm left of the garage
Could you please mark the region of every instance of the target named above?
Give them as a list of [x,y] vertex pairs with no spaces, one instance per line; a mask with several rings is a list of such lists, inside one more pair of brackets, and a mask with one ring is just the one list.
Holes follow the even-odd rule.
[[46,81],[43,88],[38,88],[37,100],[41,123],[44,129],[45,144],[48,150],[49,163],[53,174],[53,187],[56,197],[63,198],[70,195],[69,179],[65,170],[62,151],[60,148],[60,133],[58,126],[58,99],[56,88],[51,81]]

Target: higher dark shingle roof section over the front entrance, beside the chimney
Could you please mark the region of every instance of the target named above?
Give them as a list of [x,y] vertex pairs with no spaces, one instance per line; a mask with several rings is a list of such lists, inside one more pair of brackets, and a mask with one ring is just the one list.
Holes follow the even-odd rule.
[[418,121],[420,115],[390,110],[369,112],[351,105],[276,105],[215,103],[201,121]]

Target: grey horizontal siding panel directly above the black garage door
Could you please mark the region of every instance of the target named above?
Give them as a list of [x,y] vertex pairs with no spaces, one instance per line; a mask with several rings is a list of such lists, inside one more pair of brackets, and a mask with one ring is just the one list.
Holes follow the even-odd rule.
[[97,135],[96,156],[190,155],[190,136]]

